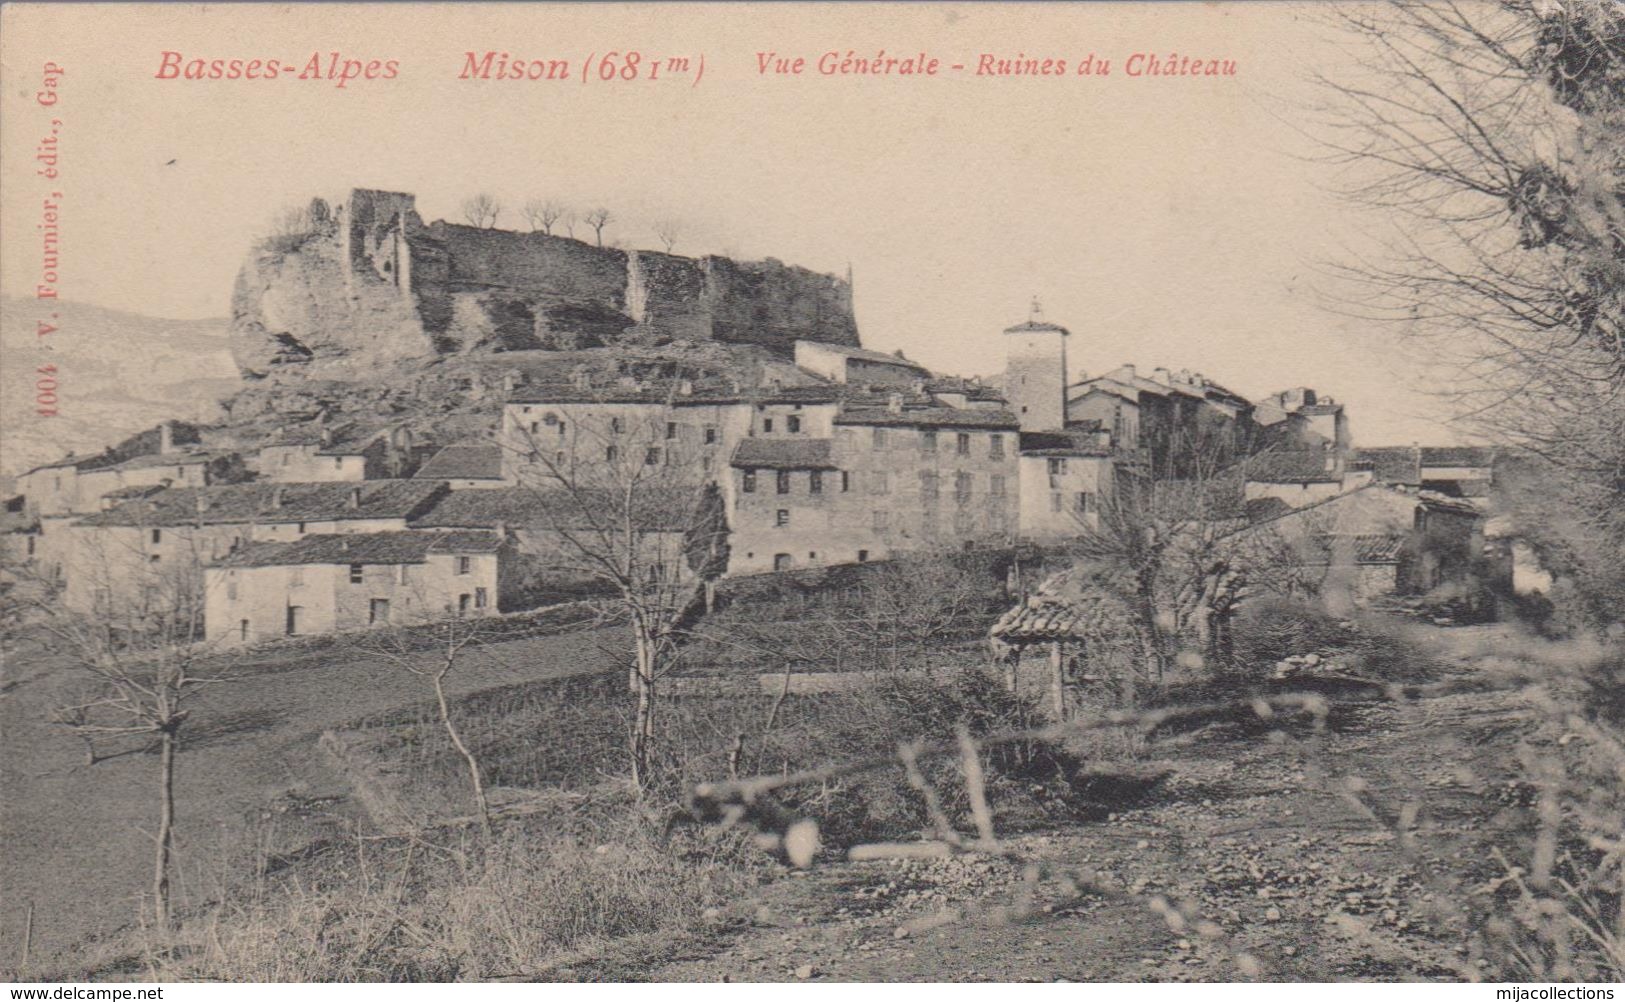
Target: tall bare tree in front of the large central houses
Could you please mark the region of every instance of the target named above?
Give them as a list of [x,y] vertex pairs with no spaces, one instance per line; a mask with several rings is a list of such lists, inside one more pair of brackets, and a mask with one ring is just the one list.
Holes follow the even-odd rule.
[[608,593],[604,620],[630,628],[629,750],[639,786],[653,778],[658,684],[678,661],[708,583],[728,565],[726,513],[702,473],[699,435],[699,427],[668,422],[665,408],[648,408],[640,419],[552,414],[509,427],[502,440],[530,497],[520,531],[548,547],[559,568]]

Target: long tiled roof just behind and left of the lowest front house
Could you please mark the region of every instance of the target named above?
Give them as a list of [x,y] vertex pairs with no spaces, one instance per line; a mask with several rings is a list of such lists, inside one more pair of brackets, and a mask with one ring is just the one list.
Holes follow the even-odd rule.
[[410,518],[427,508],[442,492],[445,492],[445,484],[439,481],[255,482],[179,487],[88,515],[76,525],[180,526]]

